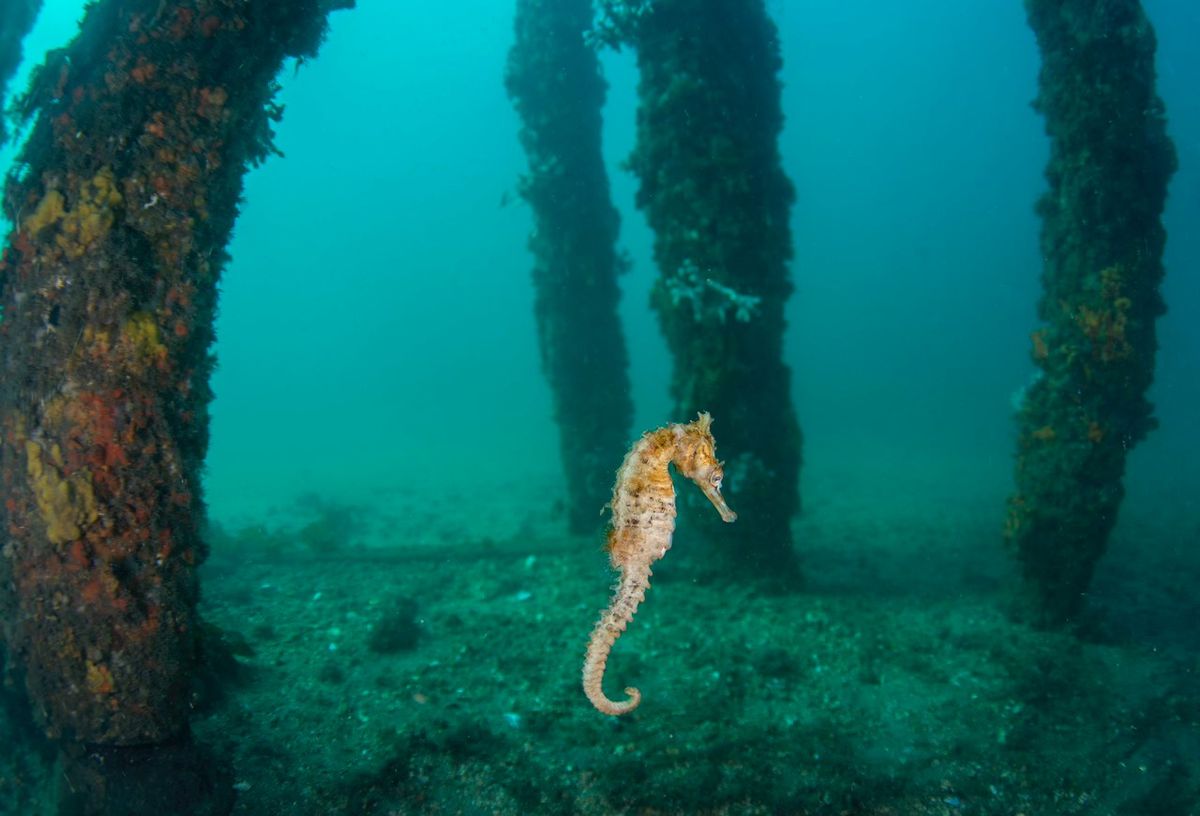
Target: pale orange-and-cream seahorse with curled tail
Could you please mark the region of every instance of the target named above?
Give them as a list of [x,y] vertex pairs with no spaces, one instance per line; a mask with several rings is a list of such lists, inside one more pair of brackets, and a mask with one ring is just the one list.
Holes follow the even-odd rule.
[[638,605],[650,588],[650,565],[671,548],[674,533],[674,485],[667,466],[696,482],[721,518],[737,520],[721,497],[724,462],[716,460],[713,442],[713,418],[700,414],[686,425],[673,422],[642,434],[625,455],[612,490],[612,527],[607,551],[619,577],[608,608],[592,630],[583,661],[583,691],[604,714],[628,714],[642,702],[635,688],[625,689],[625,700],[613,701],[604,694],[604,670],[612,644],[634,619]]

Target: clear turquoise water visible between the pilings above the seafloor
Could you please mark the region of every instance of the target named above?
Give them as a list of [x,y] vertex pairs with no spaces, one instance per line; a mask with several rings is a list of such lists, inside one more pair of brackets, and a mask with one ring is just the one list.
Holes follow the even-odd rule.
[[[1162,428],[1134,454],[1129,487],[1136,497],[1170,462],[1170,485],[1189,496],[1200,485],[1200,287],[1188,274],[1200,258],[1189,46],[1200,23],[1189,4],[1146,7],[1180,170],[1152,392]],[[50,4],[28,50],[61,42],[74,8]],[[1009,397],[1032,373],[1032,203],[1046,158],[1020,4],[770,11],[785,64],[780,149],[798,190],[786,359],[805,478],[862,445],[919,460],[970,448],[985,478],[1007,480]],[[414,13],[362,2],[334,14],[318,60],[280,78],[287,158],[250,173],[222,281],[208,470],[217,516],[251,494],[557,468],[529,319],[530,215],[500,206],[524,169],[500,80],[510,44],[506,4]],[[652,427],[678,418],[647,304],[650,235],[634,179],[617,169],[632,145],[636,71],[628,53],[607,53],[605,71],[605,152],[634,258],[622,301],[634,425]],[[463,427],[492,455],[446,443]]]

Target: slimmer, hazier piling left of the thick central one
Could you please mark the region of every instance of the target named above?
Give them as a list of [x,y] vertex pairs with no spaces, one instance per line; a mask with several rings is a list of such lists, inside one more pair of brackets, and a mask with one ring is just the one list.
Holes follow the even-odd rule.
[[529,160],[521,197],[534,217],[538,344],[577,533],[600,522],[605,463],[624,449],[634,410],[617,314],[619,220],[600,150],[606,86],[584,41],[590,24],[590,0],[518,0],[505,74]]

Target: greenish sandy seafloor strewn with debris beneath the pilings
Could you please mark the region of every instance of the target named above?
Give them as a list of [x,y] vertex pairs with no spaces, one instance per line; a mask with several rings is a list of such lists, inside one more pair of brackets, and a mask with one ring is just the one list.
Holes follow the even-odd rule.
[[[1134,497],[1080,636],[1045,634],[1003,612],[995,486],[899,476],[806,476],[794,594],[698,578],[682,516],[620,719],[580,689],[611,578],[552,474],[226,520],[203,611],[236,664],[196,732],[246,815],[1200,814],[1195,512]],[[38,767],[4,768],[7,812]]]

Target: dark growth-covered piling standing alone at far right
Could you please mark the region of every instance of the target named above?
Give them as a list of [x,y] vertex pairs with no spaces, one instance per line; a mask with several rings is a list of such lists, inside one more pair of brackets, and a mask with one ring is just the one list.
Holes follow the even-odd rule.
[[1006,535],[1025,580],[1021,611],[1060,625],[1082,608],[1124,494],[1126,457],[1154,427],[1146,390],[1175,149],[1138,0],[1027,0],[1026,10],[1042,52],[1050,188],[1038,202],[1038,374],[1019,408]]

